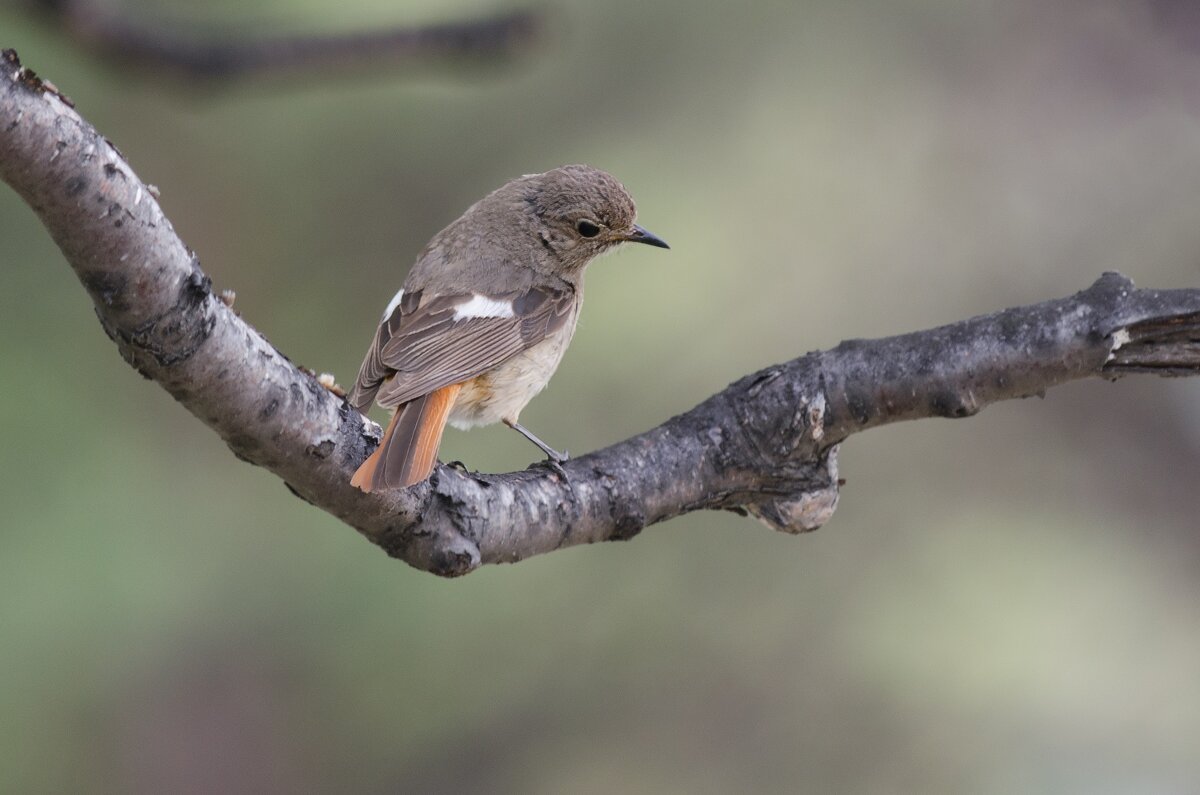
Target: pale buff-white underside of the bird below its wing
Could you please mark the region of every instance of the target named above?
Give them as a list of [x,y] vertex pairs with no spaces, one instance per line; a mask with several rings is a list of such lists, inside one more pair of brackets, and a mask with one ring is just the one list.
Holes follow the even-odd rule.
[[574,333],[575,323],[569,322],[558,334],[466,382],[450,410],[450,424],[468,429],[502,419],[517,422],[521,410],[554,375]]

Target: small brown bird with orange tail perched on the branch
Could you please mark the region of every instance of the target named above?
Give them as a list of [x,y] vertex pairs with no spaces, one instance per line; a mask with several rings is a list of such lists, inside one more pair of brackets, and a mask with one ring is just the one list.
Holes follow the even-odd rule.
[[350,483],[364,491],[430,477],[449,422],[517,423],[558,367],[583,303],[583,268],[619,243],[668,247],[634,223],[624,186],[589,166],[521,177],[425,246],[388,304],[349,401],[395,414]]

